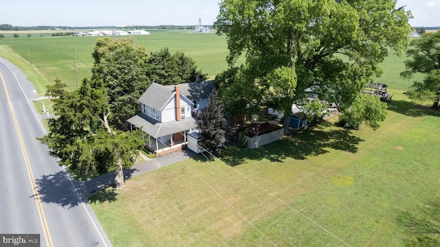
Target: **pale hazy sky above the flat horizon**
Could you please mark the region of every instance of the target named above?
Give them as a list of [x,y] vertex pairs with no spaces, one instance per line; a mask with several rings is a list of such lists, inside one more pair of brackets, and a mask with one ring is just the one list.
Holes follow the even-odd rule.
[[[5,0],[0,24],[14,26],[212,25],[220,0]],[[397,0],[414,19],[410,24],[440,26],[440,0]]]

